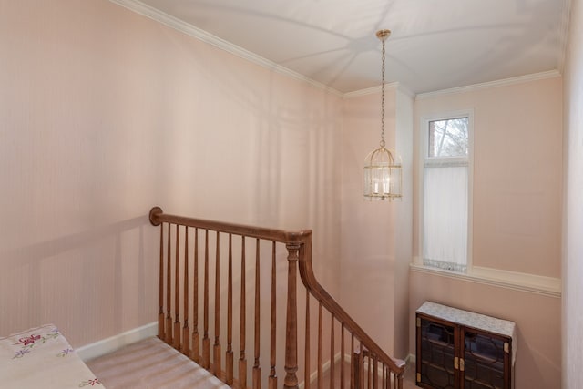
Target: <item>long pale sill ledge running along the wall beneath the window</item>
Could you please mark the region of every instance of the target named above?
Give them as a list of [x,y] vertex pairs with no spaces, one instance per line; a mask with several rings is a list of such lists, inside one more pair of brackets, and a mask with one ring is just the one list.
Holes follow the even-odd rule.
[[434,274],[440,277],[477,282],[521,292],[537,293],[548,297],[561,297],[561,280],[553,277],[478,266],[468,269],[466,273],[445,271],[417,263],[411,263],[410,268],[411,271]]

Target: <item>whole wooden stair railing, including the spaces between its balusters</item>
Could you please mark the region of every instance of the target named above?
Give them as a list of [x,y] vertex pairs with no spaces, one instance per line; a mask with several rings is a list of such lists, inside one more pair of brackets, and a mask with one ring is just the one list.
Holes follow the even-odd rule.
[[384,353],[316,281],[311,230],[198,220],[158,207],[149,219],[160,226],[159,338],[224,383],[275,389],[282,374],[284,388],[403,387],[404,362]]

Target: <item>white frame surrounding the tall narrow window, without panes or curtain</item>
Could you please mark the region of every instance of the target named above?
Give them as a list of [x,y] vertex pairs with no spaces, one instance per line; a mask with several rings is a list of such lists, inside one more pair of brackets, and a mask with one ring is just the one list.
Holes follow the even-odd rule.
[[[428,269],[435,269],[442,271],[435,267],[424,265],[424,161],[429,147],[429,122],[436,120],[446,120],[448,118],[467,118],[468,131],[468,156],[467,156],[467,252],[466,252],[466,272],[472,271],[472,235],[473,235],[473,188],[474,188],[474,110],[464,109],[459,111],[444,112],[437,115],[424,116],[421,118],[419,124],[419,159],[417,164],[417,177],[419,188],[419,203],[418,203],[418,236],[419,247],[418,256],[414,259],[414,265],[417,267],[424,267]],[[465,274],[459,271],[451,271],[455,274]]]

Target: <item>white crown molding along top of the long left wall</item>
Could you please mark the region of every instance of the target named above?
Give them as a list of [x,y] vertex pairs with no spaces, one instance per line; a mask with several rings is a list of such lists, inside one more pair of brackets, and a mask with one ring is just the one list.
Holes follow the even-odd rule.
[[261,67],[270,69],[271,71],[279,73],[283,76],[295,78],[297,80],[306,82],[312,85],[312,87],[318,87],[322,90],[325,90],[326,92],[331,93],[332,95],[343,97],[342,92],[339,92],[338,90],[332,87],[325,86],[322,83],[314,81],[312,78],[305,77],[300,73],[294,72],[293,70],[287,67],[282,67],[281,65],[278,65],[267,58],[251,53],[251,51],[246,50],[240,46],[233,45],[232,43],[224,39],[221,39],[218,36],[213,36],[212,34],[198,27],[189,25],[188,23],[184,22],[183,20],[180,20],[177,17],[168,15],[160,11],[159,9],[156,9],[150,5],[146,5],[138,0],[109,0],[109,1],[111,3],[123,6],[124,8],[127,8],[130,11],[135,12],[136,14],[146,16],[156,22],[161,23],[164,26],[169,26],[170,28],[174,28],[175,30],[178,30],[179,32],[184,33],[188,36],[195,37],[211,46],[218,47],[221,50],[224,50],[234,56],[239,56],[240,58],[246,59]]

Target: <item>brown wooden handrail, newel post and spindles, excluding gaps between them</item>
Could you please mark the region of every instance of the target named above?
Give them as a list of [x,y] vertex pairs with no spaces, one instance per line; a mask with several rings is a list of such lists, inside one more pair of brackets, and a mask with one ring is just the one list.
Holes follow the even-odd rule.
[[[237,379],[233,376],[233,350],[231,347],[232,342],[232,325],[233,325],[233,314],[232,314],[232,298],[233,298],[233,274],[232,274],[232,235],[239,236],[241,245],[240,253],[240,269],[246,269],[245,266],[245,241],[246,239],[255,239],[255,278],[251,288],[254,288],[254,316],[255,321],[253,322],[253,333],[254,333],[254,350],[253,350],[253,364],[252,364],[252,387],[261,387],[261,364],[260,364],[260,339],[261,334],[259,317],[261,298],[260,298],[260,241],[271,241],[271,331],[265,333],[269,335],[269,342],[271,346],[271,353],[269,355],[270,369],[269,376],[265,379],[269,384],[269,389],[275,389],[277,386],[277,375],[276,375],[276,305],[275,304],[275,291],[276,291],[276,281],[275,281],[275,268],[276,268],[276,243],[283,244],[288,252],[288,274],[287,274],[287,301],[286,305],[286,317],[285,317],[285,355],[283,366],[285,371],[285,376],[283,380],[283,387],[286,389],[297,389],[299,387],[299,379],[297,376],[298,371],[298,295],[297,295],[297,273],[300,274],[300,279],[306,289],[305,294],[305,346],[303,356],[303,369],[304,369],[304,384],[306,389],[310,387],[310,299],[311,297],[318,302],[319,313],[318,313],[318,361],[317,361],[317,374],[318,374],[318,386],[322,385],[322,308],[330,313],[331,317],[331,327],[330,327],[330,355],[331,355],[331,365],[330,365],[330,375],[334,377],[334,363],[332,360],[336,357],[336,352],[334,348],[335,342],[335,332],[334,332],[334,322],[340,323],[340,353],[341,361],[343,361],[343,355],[346,353],[346,348],[344,345],[345,332],[351,339],[350,344],[350,358],[351,358],[351,373],[350,373],[350,387],[353,389],[363,387],[364,383],[368,383],[368,386],[373,384],[373,388],[377,387],[378,381],[381,380],[383,387],[389,387],[389,382],[391,381],[391,374],[394,379],[394,388],[402,388],[403,384],[403,374],[404,374],[404,361],[394,359],[388,354],[384,353],[383,349],[378,346],[373,339],[363,331],[363,329],[353,321],[352,317],[343,310],[343,308],[332,298],[332,296],[322,288],[322,285],[316,280],[312,269],[312,230],[300,230],[300,231],[287,231],[287,230],[272,230],[261,227],[246,226],[242,224],[233,224],[213,220],[201,220],[188,218],[183,216],[169,215],[165,214],[159,207],[154,207],[149,212],[149,220],[155,225],[160,225],[160,285],[159,285],[159,337],[165,342],[173,345],[177,349],[181,350],[190,356],[195,362],[198,362],[205,369],[214,373],[225,383],[230,384],[235,388],[247,388],[247,356],[245,349],[245,333],[246,333],[246,288],[251,285],[245,282],[245,271],[241,271],[240,274],[240,358],[239,358],[239,374]],[[168,228],[164,229],[164,223],[168,224]],[[175,226],[173,228],[172,226]],[[179,226],[185,227],[184,234],[180,234]],[[189,228],[193,228],[193,277],[192,282],[189,282]],[[165,240],[164,231],[167,230],[167,251],[163,250],[163,245]],[[210,261],[209,258],[209,231],[212,233],[212,239],[215,240],[215,260]],[[202,257],[204,262],[202,266],[204,267],[204,283],[202,285],[203,291],[199,293],[199,280],[198,280],[198,268],[199,268],[199,233],[204,234],[204,247],[201,247]],[[222,287],[220,284],[220,234],[229,235],[228,243],[228,278],[226,280],[226,287]],[[170,235],[175,237],[174,246],[174,258],[171,258],[171,241]],[[224,235],[223,235],[224,237]],[[180,241],[184,241],[184,254],[183,260],[180,262],[180,251],[179,244]],[[201,258],[202,258],[201,257]],[[166,262],[166,266],[164,265]],[[171,262],[174,263],[174,280],[171,280],[170,273],[172,270]],[[210,358],[210,333],[209,333],[209,302],[210,302],[210,280],[209,280],[209,265],[214,264],[215,279],[214,279],[214,343],[212,347],[212,356]],[[182,266],[180,266],[182,263]],[[261,262],[264,263],[264,262]],[[224,266],[224,265],[223,265]],[[262,266],[262,265],[261,265]],[[186,271],[186,274],[180,275],[180,268]],[[163,277],[166,273],[166,279]],[[180,285],[182,282],[182,286]],[[166,289],[163,288],[162,284],[166,283]],[[171,289],[170,285],[173,284],[174,288]],[[183,291],[181,291],[181,288]],[[189,336],[189,289],[192,290],[193,301],[192,301],[192,336]],[[220,310],[220,293],[222,290],[226,289],[228,291],[227,298],[227,347],[225,352],[225,368],[226,371],[222,371],[221,361],[221,340],[220,340],[220,322],[224,321],[225,318],[221,317],[224,313]],[[165,292],[166,291],[166,292]],[[182,292],[182,293],[180,293]],[[170,295],[174,295],[175,300],[170,299]],[[180,297],[180,294],[183,297]],[[164,299],[166,297],[166,299]],[[180,299],[183,299],[184,304],[183,311],[180,312]],[[199,353],[199,320],[198,320],[198,307],[199,299],[202,300],[201,307],[203,310],[203,338],[201,339],[202,353]],[[166,312],[164,310],[164,301],[166,301]],[[174,322],[172,322],[172,309],[174,310]],[[224,309],[223,309],[224,310]],[[182,316],[181,316],[182,315]],[[180,329],[180,319],[184,320],[184,328]],[[224,327],[223,327],[224,328]],[[182,335],[182,336],[180,336]],[[189,346],[190,341],[192,341],[192,347]],[[355,349],[354,342],[358,342]],[[365,366],[364,361],[367,361]],[[332,363],[333,362],[333,363]],[[373,363],[373,364],[372,364]],[[382,369],[377,370],[379,363]],[[364,371],[368,367],[368,373],[364,374]],[[340,365],[339,374],[341,378],[341,388],[344,388],[344,366],[343,362]],[[314,373],[315,374],[315,373]],[[331,381],[331,387],[333,384],[333,379]]]

